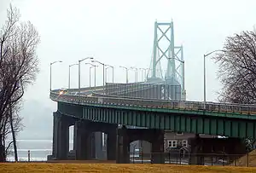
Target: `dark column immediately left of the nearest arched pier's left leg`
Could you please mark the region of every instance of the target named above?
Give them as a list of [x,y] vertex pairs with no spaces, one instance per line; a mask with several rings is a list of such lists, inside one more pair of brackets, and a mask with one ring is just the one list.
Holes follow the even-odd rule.
[[117,140],[117,130],[114,128],[108,133],[107,137],[107,159],[115,160],[116,159],[116,142]]

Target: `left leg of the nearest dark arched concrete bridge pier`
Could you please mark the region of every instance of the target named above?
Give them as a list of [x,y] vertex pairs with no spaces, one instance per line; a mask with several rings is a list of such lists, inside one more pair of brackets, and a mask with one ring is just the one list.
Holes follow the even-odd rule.
[[122,129],[117,130],[117,146],[116,146],[116,163],[117,164],[129,164],[130,142],[127,136],[127,129],[125,126]]

